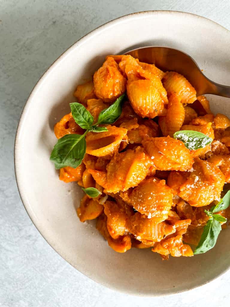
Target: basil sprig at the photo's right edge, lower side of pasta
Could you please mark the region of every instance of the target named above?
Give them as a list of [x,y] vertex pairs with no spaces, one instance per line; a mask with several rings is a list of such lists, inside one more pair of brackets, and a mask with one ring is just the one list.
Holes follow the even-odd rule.
[[220,202],[213,206],[210,211],[205,210],[209,220],[206,223],[203,233],[201,235],[200,242],[198,243],[194,255],[205,253],[213,248],[217,242],[218,235],[221,231],[221,224],[225,223],[227,220],[224,216],[220,214],[213,214],[221,210],[227,209],[230,205],[230,190],[224,195]]

